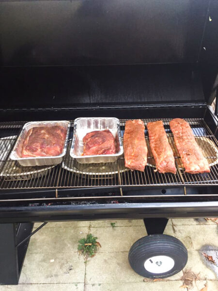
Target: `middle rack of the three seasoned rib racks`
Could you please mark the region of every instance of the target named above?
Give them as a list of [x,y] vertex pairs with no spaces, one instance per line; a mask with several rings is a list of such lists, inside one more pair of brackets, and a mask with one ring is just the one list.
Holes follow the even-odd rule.
[[159,173],[176,173],[175,159],[162,120],[147,124],[149,142]]

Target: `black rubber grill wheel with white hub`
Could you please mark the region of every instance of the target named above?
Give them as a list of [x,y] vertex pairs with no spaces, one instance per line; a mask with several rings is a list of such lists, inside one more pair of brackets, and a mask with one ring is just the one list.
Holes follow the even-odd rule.
[[178,239],[153,234],[136,241],[129,251],[129,264],[146,278],[167,278],[179,273],[187,263],[187,249]]

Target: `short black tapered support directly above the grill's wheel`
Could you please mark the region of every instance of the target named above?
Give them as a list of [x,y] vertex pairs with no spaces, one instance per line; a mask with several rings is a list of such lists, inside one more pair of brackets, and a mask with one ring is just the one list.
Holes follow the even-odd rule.
[[148,235],[163,234],[168,218],[144,218],[143,221]]

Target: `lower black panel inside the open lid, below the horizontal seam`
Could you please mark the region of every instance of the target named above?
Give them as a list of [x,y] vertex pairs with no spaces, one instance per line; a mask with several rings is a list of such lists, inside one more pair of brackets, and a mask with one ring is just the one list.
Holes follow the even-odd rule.
[[204,101],[193,65],[5,68],[3,79],[3,108]]

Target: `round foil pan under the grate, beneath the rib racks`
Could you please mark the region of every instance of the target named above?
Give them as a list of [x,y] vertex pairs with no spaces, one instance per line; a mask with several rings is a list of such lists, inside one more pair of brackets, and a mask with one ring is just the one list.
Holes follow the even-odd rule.
[[[197,136],[195,137],[197,144],[201,147],[204,157],[207,159],[209,166],[214,166],[218,164],[218,148],[215,146],[214,142],[207,137]],[[171,145],[174,157],[179,157],[179,152],[175,146],[172,137],[168,136],[169,144]],[[151,149],[149,146],[148,139],[146,139],[148,147],[148,155],[151,155]],[[184,169],[182,160],[180,158],[176,159],[179,168]],[[156,167],[154,158],[148,158],[147,166]]]

